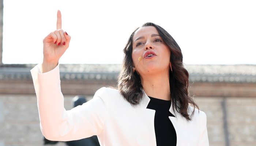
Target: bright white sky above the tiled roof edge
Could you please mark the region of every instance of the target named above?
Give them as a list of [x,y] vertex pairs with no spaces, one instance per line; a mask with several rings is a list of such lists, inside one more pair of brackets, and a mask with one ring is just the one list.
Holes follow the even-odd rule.
[[60,64],[121,64],[135,28],[153,22],[172,35],[184,64],[256,64],[253,0],[4,0],[3,63],[42,62],[42,40],[71,35]]

